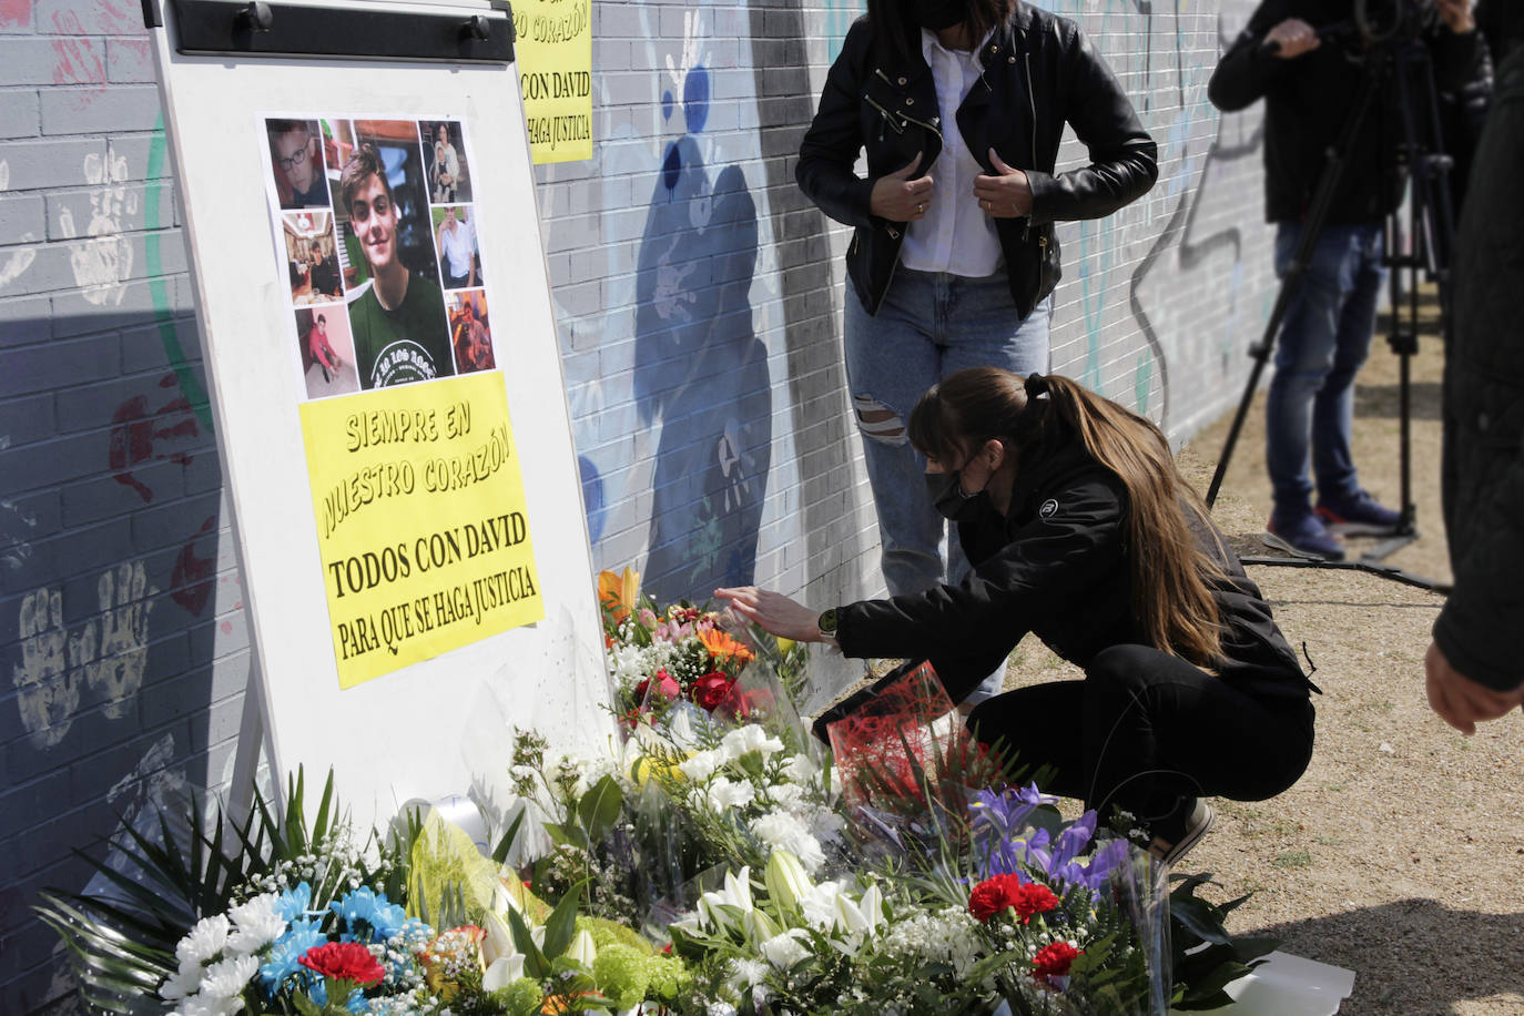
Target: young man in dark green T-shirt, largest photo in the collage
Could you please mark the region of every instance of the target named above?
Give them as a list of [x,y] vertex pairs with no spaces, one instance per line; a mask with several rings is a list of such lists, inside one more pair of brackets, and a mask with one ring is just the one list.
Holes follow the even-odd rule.
[[[399,181],[405,178],[399,174]],[[383,388],[453,375],[443,292],[427,273],[410,270],[399,251],[401,207],[424,215],[421,195],[393,193],[386,161],[370,142],[360,143],[344,163],[338,193],[369,276],[349,292],[360,384]],[[427,216],[424,222],[427,230]]]

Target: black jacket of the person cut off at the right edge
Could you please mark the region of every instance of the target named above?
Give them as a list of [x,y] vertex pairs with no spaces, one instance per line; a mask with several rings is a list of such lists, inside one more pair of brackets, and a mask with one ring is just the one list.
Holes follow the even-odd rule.
[[1524,49],[1498,73],[1451,271],[1445,347],[1445,533],[1455,588],[1434,641],[1463,675],[1524,682]]

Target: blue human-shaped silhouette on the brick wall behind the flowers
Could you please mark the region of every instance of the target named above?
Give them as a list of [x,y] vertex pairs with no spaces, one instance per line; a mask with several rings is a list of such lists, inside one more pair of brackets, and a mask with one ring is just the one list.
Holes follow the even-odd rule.
[[642,423],[661,428],[643,586],[658,602],[703,602],[753,580],[773,440],[750,300],[756,203],[738,166],[710,187],[692,134],[704,81],[703,69],[687,75],[690,133],[668,148],[637,265],[636,405]]

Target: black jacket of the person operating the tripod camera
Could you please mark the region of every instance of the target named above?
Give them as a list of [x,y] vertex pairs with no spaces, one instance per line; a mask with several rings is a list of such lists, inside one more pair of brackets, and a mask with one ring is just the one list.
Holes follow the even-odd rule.
[[[1387,6],[1372,3],[1370,11],[1375,15]],[[1207,96],[1224,113],[1265,99],[1265,219],[1269,222],[1297,222],[1306,216],[1326,152],[1340,139],[1367,73],[1375,73],[1367,72],[1355,52],[1353,17],[1353,0],[1263,0],[1212,73]],[[1451,32],[1430,0],[1423,0],[1416,17],[1420,38],[1433,53],[1440,90],[1458,93],[1486,75],[1475,32]],[[1286,18],[1334,30],[1317,49],[1280,59],[1265,50],[1263,41]],[[1378,79],[1381,88],[1352,142],[1329,206],[1329,222],[1373,222],[1402,201],[1405,177],[1396,163],[1396,148],[1404,137],[1401,107],[1394,82]],[[1413,93],[1413,107],[1419,122],[1426,122],[1425,93]]]

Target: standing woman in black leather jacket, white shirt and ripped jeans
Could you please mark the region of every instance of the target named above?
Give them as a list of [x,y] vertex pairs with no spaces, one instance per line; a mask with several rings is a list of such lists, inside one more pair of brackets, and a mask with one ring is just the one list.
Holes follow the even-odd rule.
[[[1090,165],[1055,174],[1065,122]],[[1021,0],[869,0],[847,32],[797,178],[855,227],[846,369],[892,594],[968,570],[956,538],[942,559],[945,527],[905,442],[911,407],[963,367],[1047,370],[1053,222],[1143,195],[1155,154],[1079,27]]]

